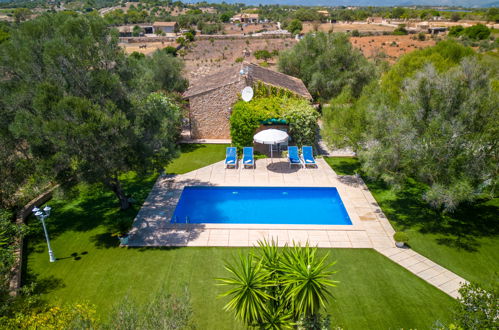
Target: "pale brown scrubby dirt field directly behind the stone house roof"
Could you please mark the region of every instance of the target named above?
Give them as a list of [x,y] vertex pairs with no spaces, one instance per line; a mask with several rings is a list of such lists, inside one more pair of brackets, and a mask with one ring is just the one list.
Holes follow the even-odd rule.
[[[190,80],[199,79],[210,73],[224,68],[239,65],[237,58],[245,61],[259,63],[253,53],[266,49],[281,51],[291,48],[296,43],[295,39],[236,39],[236,40],[201,40],[190,46],[185,60],[185,72]],[[249,56],[244,56],[244,50],[249,50]],[[277,57],[268,61],[269,68],[276,70]]]

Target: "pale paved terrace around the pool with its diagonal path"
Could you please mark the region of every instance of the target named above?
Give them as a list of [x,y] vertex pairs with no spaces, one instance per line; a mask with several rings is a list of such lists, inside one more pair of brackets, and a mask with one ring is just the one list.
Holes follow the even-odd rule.
[[[396,248],[394,230],[360,177],[338,176],[321,158],[316,168],[289,168],[286,159],[256,160],[255,169],[225,169],[223,161],[176,176],[161,176],[137,214],[129,247],[248,247],[274,239],[320,248],[373,248],[452,297],[466,281],[408,248]],[[170,224],[185,186],[336,187],[352,225]]]

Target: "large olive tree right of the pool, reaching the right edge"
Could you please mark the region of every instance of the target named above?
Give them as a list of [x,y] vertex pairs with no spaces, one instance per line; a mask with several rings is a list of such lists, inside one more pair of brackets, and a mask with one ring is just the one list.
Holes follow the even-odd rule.
[[452,210],[484,193],[499,177],[497,71],[476,58],[439,73],[431,64],[405,81],[396,103],[368,107],[367,174],[392,183],[426,183],[424,198]]

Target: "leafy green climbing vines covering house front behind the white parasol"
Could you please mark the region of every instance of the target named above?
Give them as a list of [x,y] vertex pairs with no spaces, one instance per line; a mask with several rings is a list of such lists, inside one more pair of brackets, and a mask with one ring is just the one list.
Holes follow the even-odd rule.
[[262,123],[289,124],[289,134],[298,145],[314,145],[319,113],[307,100],[287,96],[255,97],[232,107],[230,135],[238,148],[253,145],[253,136]]

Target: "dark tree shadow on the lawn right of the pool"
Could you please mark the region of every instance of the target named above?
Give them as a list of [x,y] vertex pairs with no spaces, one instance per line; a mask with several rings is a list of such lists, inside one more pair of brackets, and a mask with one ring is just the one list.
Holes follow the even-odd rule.
[[[369,182],[369,189],[376,196],[386,193],[388,187],[381,182]],[[394,198],[378,202],[386,216],[402,230],[417,229],[423,234],[441,235],[436,241],[449,247],[477,251],[478,238],[492,237],[499,233],[497,203],[477,200],[464,203],[452,213],[441,213],[431,208],[423,199],[423,187],[408,183],[404,189],[392,192]]]

